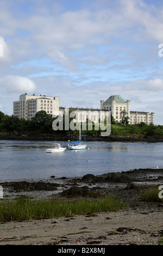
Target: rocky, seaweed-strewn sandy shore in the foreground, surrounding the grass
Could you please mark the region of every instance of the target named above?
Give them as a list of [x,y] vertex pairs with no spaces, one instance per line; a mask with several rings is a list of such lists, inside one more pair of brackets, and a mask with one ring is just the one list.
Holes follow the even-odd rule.
[[141,192],[163,185],[163,169],[135,169],[103,175],[1,182],[9,196],[29,190],[34,197],[97,198],[114,195],[127,201],[115,212],[0,224],[0,245],[162,245],[163,204],[143,202]]

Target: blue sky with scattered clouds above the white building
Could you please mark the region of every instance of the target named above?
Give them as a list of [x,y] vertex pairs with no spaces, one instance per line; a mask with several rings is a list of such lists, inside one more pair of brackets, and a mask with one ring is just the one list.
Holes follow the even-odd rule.
[[163,125],[163,2],[0,0],[0,111],[24,93],[88,108],[121,95]]

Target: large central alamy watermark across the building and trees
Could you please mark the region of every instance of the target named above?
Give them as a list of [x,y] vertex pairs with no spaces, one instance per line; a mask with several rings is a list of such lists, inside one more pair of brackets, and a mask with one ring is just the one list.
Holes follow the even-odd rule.
[[[96,116],[97,122],[92,118]],[[92,131],[99,129],[102,131],[101,136],[109,136],[111,133],[111,112],[110,111],[69,111],[68,107],[65,107],[64,112],[54,112],[52,127],[54,131],[60,130],[80,130],[80,122],[82,122],[82,129],[84,131]],[[72,120],[71,120],[72,119]],[[71,121],[70,121],[71,120]],[[93,123],[95,125],[93,125]],[[93,128],[94,127],[94,128]]]

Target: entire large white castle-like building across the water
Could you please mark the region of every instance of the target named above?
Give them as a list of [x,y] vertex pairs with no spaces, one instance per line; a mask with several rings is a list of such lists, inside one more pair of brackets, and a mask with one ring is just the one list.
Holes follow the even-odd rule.
[[[99,118],[102,120],[106,118],[106,112],[111,111],[112,117],[116,122],[122,120],[121,112],[124,110],[128,113],[129,124],[139,124],[144,122],[146,124],[154,124],[154,113],[130,111],[130,100],[123,100],[120,95],[110,96],[106,101],[101,100],[101,108],[73,108],[73,111],[80,112],[80,120],[83,122],[86,119],[98,123]],[[47,114],[63,113],[64,107],[59,107],[59,97],[53,96],[35,96],[35,95],[20,95],[19,101],[13,102],[13,115],[18,118],[31,120],[35,114],[41,110],[46,111]]]

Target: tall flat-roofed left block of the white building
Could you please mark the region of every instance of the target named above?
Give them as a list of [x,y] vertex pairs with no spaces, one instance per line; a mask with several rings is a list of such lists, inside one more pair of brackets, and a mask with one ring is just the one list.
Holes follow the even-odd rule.
[[41,110],[47,114],[59,111],[59,97],[22,94],[19,101],[13,102],[13,115],[18,118],[31,120]]

